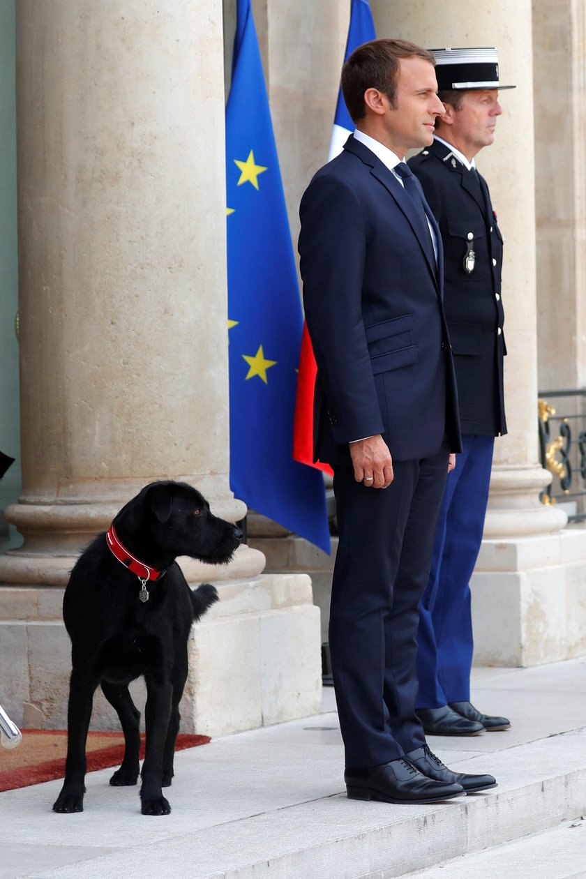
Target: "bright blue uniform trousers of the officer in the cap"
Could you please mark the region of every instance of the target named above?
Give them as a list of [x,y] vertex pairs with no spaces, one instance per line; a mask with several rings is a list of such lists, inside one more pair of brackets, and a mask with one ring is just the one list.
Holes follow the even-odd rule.
[[445,483],[430,578],[420,601],[417,708],[469,701],[473,636],[470,578],[481,548],[494,437],[465,434]]

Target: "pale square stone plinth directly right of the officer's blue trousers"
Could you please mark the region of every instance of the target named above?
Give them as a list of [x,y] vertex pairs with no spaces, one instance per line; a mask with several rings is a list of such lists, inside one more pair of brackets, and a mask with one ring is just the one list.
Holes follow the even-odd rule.
[[484,540],[470,586],[475,664],[586,654],[586,528]]

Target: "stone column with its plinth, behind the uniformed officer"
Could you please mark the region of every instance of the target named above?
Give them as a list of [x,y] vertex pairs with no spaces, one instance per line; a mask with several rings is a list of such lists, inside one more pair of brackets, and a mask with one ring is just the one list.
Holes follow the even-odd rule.
[[537,436],[537,309],[531,0],[402,4],[373,0],[379,36],[426,47],[496,46],[504,83],[496,142],[477,163],[506,238],[503,266],[509,434],[496,440],[484,541],[474,575],[477,661],[532,665],[575,655],[586,642],[577,582],[586,551],[566,516],[539,503],[551,475]]

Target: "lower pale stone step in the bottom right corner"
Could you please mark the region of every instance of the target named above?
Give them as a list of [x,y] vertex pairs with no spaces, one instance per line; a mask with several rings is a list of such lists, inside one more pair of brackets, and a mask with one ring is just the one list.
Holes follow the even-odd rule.
[[585,879],[586,820],[564,821],[554,830],[524,836],[483,852],[465,854],[405,879]]

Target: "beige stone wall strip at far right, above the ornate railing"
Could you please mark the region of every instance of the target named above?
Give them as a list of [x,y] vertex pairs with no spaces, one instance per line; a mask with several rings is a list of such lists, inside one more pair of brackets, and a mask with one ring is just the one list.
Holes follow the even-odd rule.
[[533,3],[539,386],[586,383],[586,11]]

